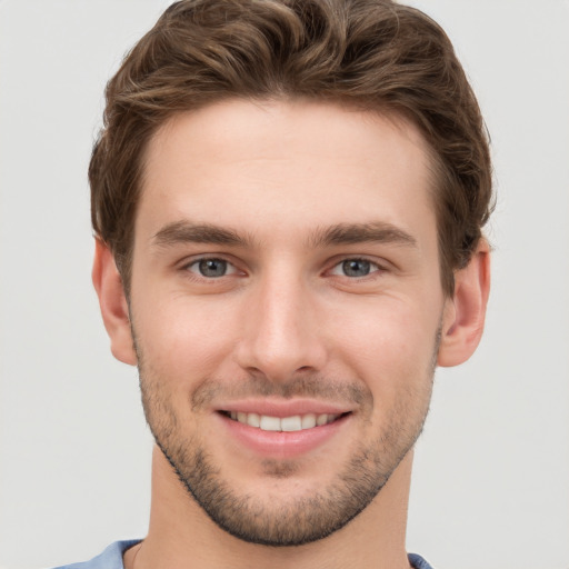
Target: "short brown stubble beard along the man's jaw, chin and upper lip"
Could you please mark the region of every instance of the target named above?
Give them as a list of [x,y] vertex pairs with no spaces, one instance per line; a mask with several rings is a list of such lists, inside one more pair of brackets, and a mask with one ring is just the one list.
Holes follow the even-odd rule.
[[[189,496],[209,518],[231,536],[250,543],[272,547],[302,546],[340,530],[360,513],[379,493],[391,473],[413,447],[422,431],[429,410],[435,362],[440,331],[437,333],[432,361],[420,391],[400,393],[389,412],[387,427],[369,443],[359,443],[343,469],[325,488],[310,496],[281,497],[280,500],[259,498],[251,492],[239,493],[231,480],[223,476],[220,465],[208,453],[197,435],[184,433],[163,382],[144,365],[143,353],[137,346],[142,405],[156,443],[170,462]],[[257,395],[318,396],[321,377],[301,378],[284,387],[251,378]],[[214,381],[206,381],[200,393],[193,393],[192,408],[203,403],[219,389]],[[326,397],[336,388],[328,387]],[[373,399],[367,387],[357,383],[341,389],[359,400],[362,409],[372,409]],[[203,397],[206,393],[206,397]],[[208,395],[209,393],[209,395]],[[266,461],[264,473],[274,479],[293,476],[293,461]],[[326,468],[326,466],[322,466]]]

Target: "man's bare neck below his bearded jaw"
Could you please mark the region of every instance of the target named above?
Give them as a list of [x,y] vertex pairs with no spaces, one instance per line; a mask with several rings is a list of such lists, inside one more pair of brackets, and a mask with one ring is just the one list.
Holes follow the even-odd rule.
[[124,555],[126,569],[408,569],[405,550],[412,451],[373,501],[341,530],[299,547],[241,541],[216,526],[188,495],[158,448],[147,538]]

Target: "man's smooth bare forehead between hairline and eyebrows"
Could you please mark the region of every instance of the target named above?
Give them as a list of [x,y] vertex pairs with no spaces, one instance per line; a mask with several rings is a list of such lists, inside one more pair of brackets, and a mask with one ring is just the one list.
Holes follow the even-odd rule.
[[137,233],[183,219],[259,239],[377,220],[435,230],[418,130],[331,103],[230,100],[178,114],[151,139],[143,180]]

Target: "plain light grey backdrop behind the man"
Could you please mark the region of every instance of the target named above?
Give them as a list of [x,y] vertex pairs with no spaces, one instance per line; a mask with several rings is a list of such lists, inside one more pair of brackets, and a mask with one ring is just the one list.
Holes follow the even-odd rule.
[[[102,91],[163,0],[0,0],[0,567],[146,533],[151,440],[90,282]],[[485,339],[437,373],[408,548],[437,569],[569,567],[569,3],[415,1],[492,138]]]

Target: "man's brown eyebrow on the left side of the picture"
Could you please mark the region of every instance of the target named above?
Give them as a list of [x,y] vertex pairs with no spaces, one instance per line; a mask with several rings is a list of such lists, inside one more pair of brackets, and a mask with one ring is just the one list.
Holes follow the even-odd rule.
[[178,243],[212,243],[247,247],[251,239],[243,238],[231,229],[212,223],[192,223],[190,221],[174,221],[161,228],[153,237],[153,243],[168,247]]

